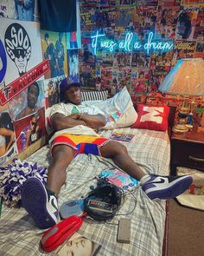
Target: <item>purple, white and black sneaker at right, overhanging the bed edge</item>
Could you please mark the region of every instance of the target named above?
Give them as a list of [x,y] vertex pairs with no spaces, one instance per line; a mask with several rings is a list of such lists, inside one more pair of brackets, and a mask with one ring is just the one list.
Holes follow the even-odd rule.
[[[152,174],[144,181],[142,189],[151,200],[169,199],[182,194],[193,182],[191,176],[158,176]],[[146,178],[147,179],[147,178]]]

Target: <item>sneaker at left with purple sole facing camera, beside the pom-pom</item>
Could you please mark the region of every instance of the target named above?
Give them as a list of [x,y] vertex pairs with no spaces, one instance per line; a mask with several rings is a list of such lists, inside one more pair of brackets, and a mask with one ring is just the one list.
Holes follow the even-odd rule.
[[58,222],[58,203],[53,194],[35,177],[22,184],[22,207],[35,221],[36,226],[45,229]]

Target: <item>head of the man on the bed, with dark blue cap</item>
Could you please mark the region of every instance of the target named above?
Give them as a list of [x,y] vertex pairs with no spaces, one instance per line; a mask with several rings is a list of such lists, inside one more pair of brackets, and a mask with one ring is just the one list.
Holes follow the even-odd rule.
[[80,82],[71,82],[67,78],[61,81],[61,95],[64,96],[66,102],[79,105],[81,102]]

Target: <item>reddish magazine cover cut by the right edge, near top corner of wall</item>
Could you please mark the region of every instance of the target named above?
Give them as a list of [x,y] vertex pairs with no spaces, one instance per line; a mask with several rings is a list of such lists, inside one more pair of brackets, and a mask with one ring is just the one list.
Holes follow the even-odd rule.
[[204,7],[200,7],[197,20],[194,26],[194,39],[202,42],[204,40]]

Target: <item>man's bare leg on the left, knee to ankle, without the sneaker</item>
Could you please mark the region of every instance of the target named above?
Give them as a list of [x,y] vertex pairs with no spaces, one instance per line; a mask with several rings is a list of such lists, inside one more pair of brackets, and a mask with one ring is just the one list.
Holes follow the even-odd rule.
[[66,170],[73,160],[73,148],[67,145],[56,145],[52,151],[53,163],[48,167],[47,188],[58,195],[66,181]]

